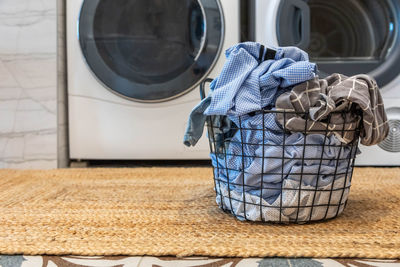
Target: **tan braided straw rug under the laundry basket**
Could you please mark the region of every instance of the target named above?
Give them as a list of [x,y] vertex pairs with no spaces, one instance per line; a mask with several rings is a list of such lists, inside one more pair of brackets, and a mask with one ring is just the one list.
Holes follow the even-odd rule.
[[400,169],[355,170],[337,219],[244,223],[210,168],[0,170],[0,254],[400,257]]

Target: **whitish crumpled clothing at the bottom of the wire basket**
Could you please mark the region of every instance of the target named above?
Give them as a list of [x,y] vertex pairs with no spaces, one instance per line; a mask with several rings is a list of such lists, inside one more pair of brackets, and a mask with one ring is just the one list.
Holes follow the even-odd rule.
[[236,190],[228,190],[227,184],[217,182],[216,202],[220,208],[229,210],[239,220],[281,223],[317,221],[336,217],[343,212],[350,192],[350,183],[351,177],[341,176],[335,179],[334,183],[318,187],[302,184],[302,190],[298,190],[299,181],[285,179],[282,185],[281,205],[281,198],[268,203],[248,192],[243,194]]

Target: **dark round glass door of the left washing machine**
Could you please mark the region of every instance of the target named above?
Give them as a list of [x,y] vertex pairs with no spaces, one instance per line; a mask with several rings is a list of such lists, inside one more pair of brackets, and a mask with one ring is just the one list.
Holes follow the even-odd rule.
[[113,92],[161,102],[193,89],[223,42],[218,0],[86,0],[78,36],[89,68]]

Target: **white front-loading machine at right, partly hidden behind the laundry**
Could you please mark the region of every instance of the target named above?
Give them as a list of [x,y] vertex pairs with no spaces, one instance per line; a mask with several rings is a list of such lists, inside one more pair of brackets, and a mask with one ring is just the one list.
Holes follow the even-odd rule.
[[249,0],[249,38],[298,46],[319,76],[368,73],[381,88],[390,131],[375,146],[360,146],[357,165],[400,166],[400,1]]

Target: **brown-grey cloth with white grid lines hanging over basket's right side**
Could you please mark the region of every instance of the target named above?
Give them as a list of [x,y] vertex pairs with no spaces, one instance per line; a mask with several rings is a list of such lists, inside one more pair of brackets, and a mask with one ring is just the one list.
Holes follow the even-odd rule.
[[[361,143],[374,145],[385,139],[389,131],[379,88],[374,79],[364,74],[316,77],[279,96],[275,105],[277,110],[291,112],[279,113],[277,119],[292,132],[327,131],[347,144],[353,141],[362,119]],[[305,112],[309,112],[307,120]]]

